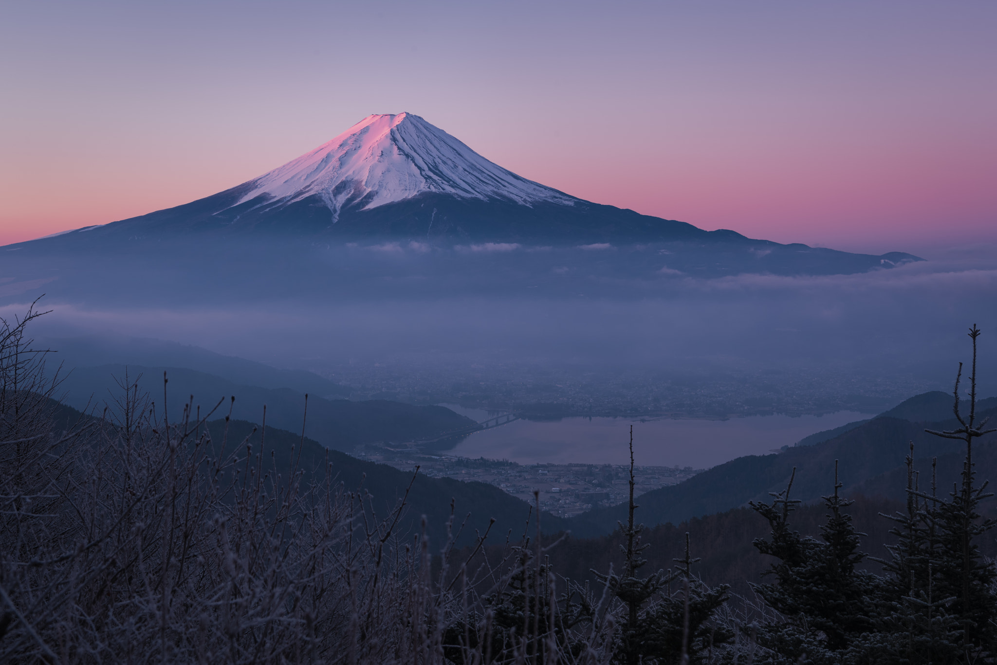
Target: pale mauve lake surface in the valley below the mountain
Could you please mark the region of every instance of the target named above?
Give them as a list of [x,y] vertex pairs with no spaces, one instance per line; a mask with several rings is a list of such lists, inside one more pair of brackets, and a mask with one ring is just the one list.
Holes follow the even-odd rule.
[[[488,412],[446,404],[483,421]],[[507,459],[519,464],[628,464],[627,442],[633,425],[638,465],[708,469],[745,455],[768,455],[816,432],[871,418],[839,411],[824,416],[750,416],[726,421],[564,418],[556,422],[515,421],[477,432],[451,455]]]

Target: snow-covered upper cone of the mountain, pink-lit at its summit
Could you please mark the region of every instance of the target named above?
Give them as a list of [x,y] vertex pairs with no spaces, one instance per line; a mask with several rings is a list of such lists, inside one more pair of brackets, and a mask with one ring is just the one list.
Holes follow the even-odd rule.
[[489,162],[443,130],[409,113],[368,116],[329,143],[246,182],[237,204],[293,203],[317,195],[333,212],[370,209],[421,193],[530,205],[575,199]]

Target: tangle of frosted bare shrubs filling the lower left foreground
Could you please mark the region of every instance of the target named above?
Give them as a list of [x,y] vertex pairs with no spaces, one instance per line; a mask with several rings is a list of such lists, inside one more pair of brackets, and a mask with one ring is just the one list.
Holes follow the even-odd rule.
[[[607,661],[597,623],[565,623],[538,549],[472,572],[452,537],[434,578],[425,528],[397,532],[404,499],[379,518],[330,465],[306,475],[266,447],[265,411],[258,443],[227,417],[212,436],[221,403],[170,420],[126,376],[61,427],[24,335],[37,315],[0,323],[0,662]],[[492,653],[490,603],[518,573],[546,600],[526,589],[527,628]]]

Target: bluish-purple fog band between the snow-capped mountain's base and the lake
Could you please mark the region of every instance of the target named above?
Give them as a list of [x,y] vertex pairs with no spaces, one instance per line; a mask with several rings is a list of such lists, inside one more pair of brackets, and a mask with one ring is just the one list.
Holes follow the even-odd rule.
[[[498,263],[465,257],[426,280],[453,288],[413,290],[418,275],[409,275],[393,290],[392,281],[407,274],[400,267],[406,251],[415,250],[381,252],[381,268],[363,268],[383,268],[376,288],[358,290],[328,276],[307,288],[282,285],[284,273],[269,266],[261,269],[269,275],[265,289],[216,297],[210,283],[191,283],[195,266],[189,274],[161,270],[150,277],[95,265],[88,291],[81,273],[57,270],[48,282],[31,283],[22,264],[17,274],[0,274],[2,313],[22,314],[47,292],[41,306],[52,313],[37,322],[36,337],[173,340],[314,371],[352,386],[353,399],[559,402],[576,413],[685,409],[708,417],[871,413],[918,392],[947,390],[956,363],[969,358],[964,333],[976,323],[984,331],[983,391],[997,392],[997,261],[985,253],[812,277],[649,280],[613,268],[612,279],[577,275],[556,289],[531,284],[534,273],[506,279],[514,272],[509,264],[490,278],[482,271]],[[393,260],[400,262],[395,268]],[[340,263],[337,274],[359,265]],[[238,269],[255,270],[251,262]],[[122,271],[117,281],[115,270]],[[301,279],[301,270],[289,267],[287,275]],[[462,280],[484,280],[487,293],[459,288]],[[656,393],[663,385],[671,392]],[[712,411],[701,408],[718,400]]]

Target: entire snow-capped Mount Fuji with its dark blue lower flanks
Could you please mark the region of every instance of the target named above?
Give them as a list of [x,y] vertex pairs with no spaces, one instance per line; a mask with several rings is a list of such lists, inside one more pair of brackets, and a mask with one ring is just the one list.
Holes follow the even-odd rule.
[[[176,243],[180,252],[191,244],[210,245],[215,255],[234,255],[236,246],[242,251],[248,245],[269,249],[302,242],[423,252],[546,247],[570,254],[558,259],[562,267],[593,260],[604,265],[607,254],[589,250],[614,249],[631,254],[617,254],[619,269],[630,276],[649,270],[655,278],[842,274],[920,260],[903,252],[855,254],[780,244],[593,203],[502,168],[409,113],[368,116],[296,160],[205,198],[8,250],[113,250],[135,256],[161,252],[165,242]],[[551,269],[537,261],[529,270]]]

